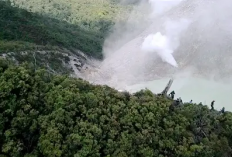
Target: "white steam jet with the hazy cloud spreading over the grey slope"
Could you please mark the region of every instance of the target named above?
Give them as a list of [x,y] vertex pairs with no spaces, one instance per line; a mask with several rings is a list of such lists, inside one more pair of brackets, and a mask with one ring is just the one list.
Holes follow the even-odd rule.
[[194,76],[232,74],[231,6],[232,0],[140,0],[105,40],[104,60],[89,81],[125,89],[188,68]]

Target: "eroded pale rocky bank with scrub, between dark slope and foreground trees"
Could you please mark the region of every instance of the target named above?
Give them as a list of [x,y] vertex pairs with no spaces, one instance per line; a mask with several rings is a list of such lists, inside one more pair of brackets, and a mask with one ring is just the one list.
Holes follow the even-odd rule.
[[94,69],[93,59],[78,50],[20,51],[0,54],[16,64],[29,62],[35,68],[45,68],[55,74],[69,74],[72,77],[85,78],[87,71]]

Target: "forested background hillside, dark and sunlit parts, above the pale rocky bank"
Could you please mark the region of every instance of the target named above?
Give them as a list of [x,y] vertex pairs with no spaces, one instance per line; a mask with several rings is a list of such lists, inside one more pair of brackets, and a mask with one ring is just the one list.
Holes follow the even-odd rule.
[[104,37],[124,8],[99,2],[0,0],[0,54],[67,48],[102,58]]

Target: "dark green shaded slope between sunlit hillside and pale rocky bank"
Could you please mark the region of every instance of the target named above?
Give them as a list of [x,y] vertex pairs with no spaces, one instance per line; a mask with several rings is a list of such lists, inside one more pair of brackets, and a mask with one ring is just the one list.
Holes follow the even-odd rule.
[[8,2],[0,3],[1,53],[64,47],[78,48],[94,57],[101,56],[103,37],[96,32],[12,7]]

